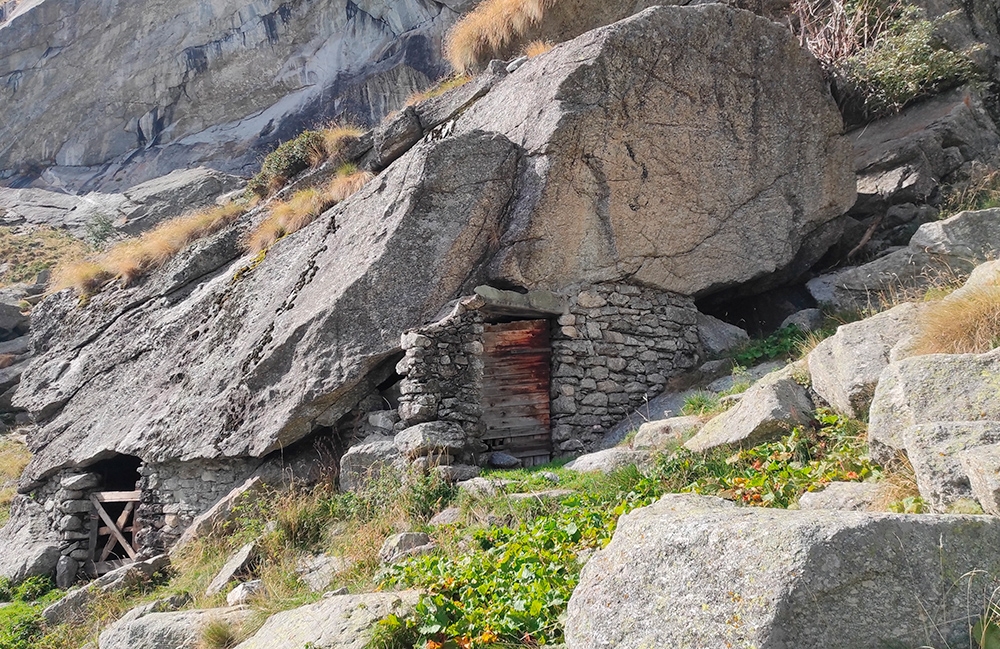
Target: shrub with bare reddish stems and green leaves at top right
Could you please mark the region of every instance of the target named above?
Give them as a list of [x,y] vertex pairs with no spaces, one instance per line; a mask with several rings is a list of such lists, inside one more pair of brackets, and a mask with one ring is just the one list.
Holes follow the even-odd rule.
[[850,125],[980,76],[967,55],[947,49],[922,10],[902,2],[797,0],[793,11],[800,42],[833,78]]

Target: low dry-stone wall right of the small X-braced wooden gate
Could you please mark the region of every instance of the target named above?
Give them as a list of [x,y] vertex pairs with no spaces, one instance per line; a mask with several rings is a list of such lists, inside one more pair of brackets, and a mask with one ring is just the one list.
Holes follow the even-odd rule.
[[259,461],[198,460],[139,467],[139,547],[154,553],[169,548],[195,517],[242,484],[256,464]]

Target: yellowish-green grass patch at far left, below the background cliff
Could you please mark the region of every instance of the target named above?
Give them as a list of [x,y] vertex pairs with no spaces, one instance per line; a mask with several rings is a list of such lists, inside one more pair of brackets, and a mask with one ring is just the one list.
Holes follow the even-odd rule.
[[43,270],[79,259],[87,250],[86,243],[63,230],[37,228],[19,232],[0,227],[0,286],[33,281]]

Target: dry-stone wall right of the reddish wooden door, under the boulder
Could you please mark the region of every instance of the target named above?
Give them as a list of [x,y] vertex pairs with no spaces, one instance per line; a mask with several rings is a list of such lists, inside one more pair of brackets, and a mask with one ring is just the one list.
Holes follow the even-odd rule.
[[698,362],[689,297],[595,285],[570,298],[552,335],[552,436],[563,454],[593,448],[615,424]]

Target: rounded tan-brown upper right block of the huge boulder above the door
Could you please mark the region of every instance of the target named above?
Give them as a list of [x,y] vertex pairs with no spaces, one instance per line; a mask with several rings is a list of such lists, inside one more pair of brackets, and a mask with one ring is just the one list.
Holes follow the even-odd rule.
[[721,5],[647,9],[528,61],[456,124],[485,128],[529,156],[532,200],[515,205],[497,259],[528,288],[774,282],[826,251],[824,226],[855,198],[816,62],[787,31]]

